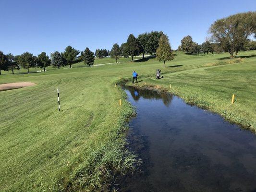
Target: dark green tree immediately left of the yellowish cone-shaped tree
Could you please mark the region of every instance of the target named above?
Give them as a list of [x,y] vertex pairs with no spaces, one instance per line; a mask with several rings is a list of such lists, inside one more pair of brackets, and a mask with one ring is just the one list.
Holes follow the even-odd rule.
[[158,48],[158,43],[160,36],[163,34],[162,31],[151,31],[148,34],[148,41],[146,45],[146,52],[150,54],[155,54]]

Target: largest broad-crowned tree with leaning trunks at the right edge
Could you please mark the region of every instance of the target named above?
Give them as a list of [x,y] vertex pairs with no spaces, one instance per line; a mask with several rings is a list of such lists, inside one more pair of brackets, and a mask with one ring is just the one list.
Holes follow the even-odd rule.
[[[212,40],[236,57],[244,47],[246,39],[256,34],[256,12],[244,12],[219,19],[211,24],[209,31]],[[235,53],[235,55],[234,55]]]

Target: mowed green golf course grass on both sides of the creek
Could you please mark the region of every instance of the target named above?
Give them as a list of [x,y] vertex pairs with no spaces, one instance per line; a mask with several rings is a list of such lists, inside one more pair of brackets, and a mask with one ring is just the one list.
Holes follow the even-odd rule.
[[[210,67],[205,65],[229,61],[229,55],[175,54],[166,68],[145,59],[0,75],[0,84],[36,83],[0,92],[0,191],[91,191],[111,170],[132,168],[134,156],[123,145],[125,122],[134,110],[114,83],[131,78],[134,70],[144,81],[140,86],[171,84],[169,90],[185,101],[256,129],[256,51],[240,52],[243,62]],[[164,76],[160,80],[155,79],[158,68]]]

